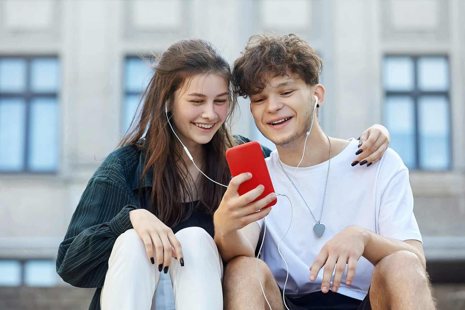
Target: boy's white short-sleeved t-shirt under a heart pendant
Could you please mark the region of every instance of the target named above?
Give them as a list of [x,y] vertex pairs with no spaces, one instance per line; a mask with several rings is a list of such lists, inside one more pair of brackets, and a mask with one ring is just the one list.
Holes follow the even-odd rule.
[[[377,163],[351,166],[358,150],[358,141],[350,140],[345,149],[331,159],[325,206],[321,223],[326,225],[321,238],[316,237],[312,227],[315,220],[292,186],[288,197],[292,201],[292,226],[281,241],[280,250],[289,266],[286,294],[302,295],[321,289],[323,268],[311,282],[309,266],[328,240],[347,226],[357,225],[381,236],[421,242],[417,221],[413,215],[413,196],[408,169],[402,159],[388,148]],[[285,194],[290,181],[279,166],[277,151],[266,158],[273,187],[276,193]],[[292,177],[295,167],[281,163]],[[294,184],[305,198],[315,218],[319,219],[325,190],[328,162],[299,168]],[[266,217],[266,236],[261,259],[270,267],[280,288],[286,280],[286,265],[278,253],[278,242],[291,221],[291,209],[286,197],[278,196],[278,202]],[[263,220],[257,222],[260,227]],[[360,257],[351,285],[345,285],[345,270],[338,292],[362,300],[367,294],[373,274],[373,265]],[[331,286],[330,286],[331,287]]]

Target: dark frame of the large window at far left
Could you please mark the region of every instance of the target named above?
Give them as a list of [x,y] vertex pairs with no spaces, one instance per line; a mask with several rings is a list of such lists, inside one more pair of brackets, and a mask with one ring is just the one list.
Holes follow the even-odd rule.
[[[35,59],[55,59],[60,64],[60,57],[57,54],[44,54],[44,55],[25,55],[25,54],[0,54],[0,59],[14,58],[14,59],[24,59],[26,61],[26,85],[24,92],[1,92],[0,99],[24,99],[25,102],[25,137],[24,137],[24,158],[22,169],[20,170],[4,170],[0,169],[0,174],[40,174],[40,175],[54,175],[58,173],[59,170],[59,160],[57,161],[57,168],[54,170],[33,170],[28,167],[29,161],[29,149],[31,137],[29,134],[31,126],[31,101],[36,98],[46,98],[46,99],[56,99],[57,105],[59,102],[60,89],[57,88],[55,92],[32,92],[31,90],[31,62]],[[59,67],[59,69],[61,69]],[[59,128],[57,128],[58,132]],[[59,151],[59,145],[57,145],[57,152]]]

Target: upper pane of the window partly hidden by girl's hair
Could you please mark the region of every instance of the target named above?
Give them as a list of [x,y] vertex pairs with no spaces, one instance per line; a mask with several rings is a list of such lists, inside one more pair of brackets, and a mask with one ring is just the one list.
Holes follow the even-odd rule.
[[140,58],[126,59],[126,92],[141,93],[152,78],[152,75],[152,69],[144,60]]

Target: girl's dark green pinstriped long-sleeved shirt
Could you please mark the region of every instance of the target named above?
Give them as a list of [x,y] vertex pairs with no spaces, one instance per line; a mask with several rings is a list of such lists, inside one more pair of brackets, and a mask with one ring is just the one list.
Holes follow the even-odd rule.
[[[241,143],[250,140],[235,136]],[[265,157],[271,151],[262,146]],[[89,310],[100,309],[100,292],[108,258],[116,238],[133,225],[129,211],[141,207],[136,192],[152,187],[153,172],[142,183],[145,155],[140,148],[124,146],[110,153],[89,180],[58,249],[57,273],[69,284],[97,288]]]

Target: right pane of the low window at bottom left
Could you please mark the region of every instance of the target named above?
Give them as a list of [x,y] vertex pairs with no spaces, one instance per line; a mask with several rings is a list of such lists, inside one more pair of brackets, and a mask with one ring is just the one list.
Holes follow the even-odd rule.
[[24,264],[24,283],[29,286],[55,286],[57,274],[53,260],[29,260]]

